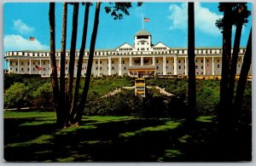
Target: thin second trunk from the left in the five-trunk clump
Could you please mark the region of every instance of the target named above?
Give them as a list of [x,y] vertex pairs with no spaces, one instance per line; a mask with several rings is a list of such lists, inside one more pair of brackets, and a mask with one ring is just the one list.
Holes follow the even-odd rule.
[[61,75],[60,75],[60,100],[61,112],[65,114],[64,118],[68,117],[68,112],[65,108],[65,64],[66,64],[66,43],[67,43],[67,3],[63,3],[62,15],[62,37],[61,37]]

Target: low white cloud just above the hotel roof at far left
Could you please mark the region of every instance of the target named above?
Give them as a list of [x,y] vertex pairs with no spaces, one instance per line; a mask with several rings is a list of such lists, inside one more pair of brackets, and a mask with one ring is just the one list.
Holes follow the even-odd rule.
[[49,46],[40,43],[37,39],[29,41],[20,35],[6,35],[3,37],[4,50],[38,50],[49,49]]

